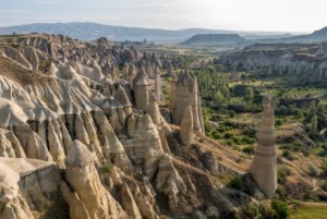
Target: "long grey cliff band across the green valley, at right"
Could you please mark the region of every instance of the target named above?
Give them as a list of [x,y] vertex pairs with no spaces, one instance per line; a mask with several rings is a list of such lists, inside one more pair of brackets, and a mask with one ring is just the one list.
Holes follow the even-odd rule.
[[262,74],[296,75],[305,83],[327,78],[327,45],[322,44],[257,44],[217,60],[232,71]]

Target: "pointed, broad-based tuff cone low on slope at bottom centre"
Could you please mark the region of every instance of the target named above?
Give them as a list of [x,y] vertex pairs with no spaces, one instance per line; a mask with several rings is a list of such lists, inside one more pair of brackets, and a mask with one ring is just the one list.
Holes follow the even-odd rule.
[[183,180],[173,167],[169,155],[162,156],[159,160],[156,188],[168,195],[169,207],[171,209],[178,207],[178,195],[186,191]]

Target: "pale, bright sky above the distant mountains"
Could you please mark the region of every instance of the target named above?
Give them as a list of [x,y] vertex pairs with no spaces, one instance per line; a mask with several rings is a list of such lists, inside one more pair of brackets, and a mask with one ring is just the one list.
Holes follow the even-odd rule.
[[165,29],[201,27],[310,33],[327,26],[326,0],[1,1],[1,27],[31,23],[95,22]]

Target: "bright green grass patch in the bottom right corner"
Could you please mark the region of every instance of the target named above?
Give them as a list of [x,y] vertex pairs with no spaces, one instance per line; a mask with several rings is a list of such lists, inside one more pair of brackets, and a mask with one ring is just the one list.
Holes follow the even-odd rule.
[[327,204],[307,203],[298,209],[291,209],[291,219],[324,219],[327,218]]

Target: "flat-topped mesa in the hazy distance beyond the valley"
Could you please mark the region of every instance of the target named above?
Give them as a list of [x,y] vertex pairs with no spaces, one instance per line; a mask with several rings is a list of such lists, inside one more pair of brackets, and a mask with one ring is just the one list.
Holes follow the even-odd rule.
[[186,46],[237,46],[245,42],[238,34],[198,34],[182,42]]

